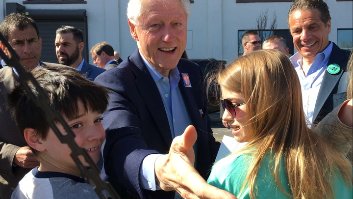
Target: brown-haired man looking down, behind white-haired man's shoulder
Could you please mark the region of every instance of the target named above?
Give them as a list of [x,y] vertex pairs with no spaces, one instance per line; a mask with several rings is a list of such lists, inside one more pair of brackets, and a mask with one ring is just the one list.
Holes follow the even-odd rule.
[[113,47],[105,41],[96,44],[91,49],[91,56],[94,64],[106,70],[115,68],[119,65],[119,63],[114,59]]

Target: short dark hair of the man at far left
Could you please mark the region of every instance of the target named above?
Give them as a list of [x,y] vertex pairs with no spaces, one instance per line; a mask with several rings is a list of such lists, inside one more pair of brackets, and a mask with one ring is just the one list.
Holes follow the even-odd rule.
[[33,27],[39,38],[39,29],[30,17],[27,17],[20,13],[11,13],[7,15],[0,25],[0,32],[8,40],[9,32],[13,29],[24,30],[25,28]]

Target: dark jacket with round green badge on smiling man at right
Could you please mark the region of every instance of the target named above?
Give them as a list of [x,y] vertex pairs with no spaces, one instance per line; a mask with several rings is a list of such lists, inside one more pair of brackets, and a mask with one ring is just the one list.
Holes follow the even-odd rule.
[[319,123],[327,114],[347,99],[349,80],[346,67],[349,55],[349,51],[342,50],[333,43],[331,56],[328,59],[328,66],[334,63],[338,64],[341,67],[341,71],[332,75],[325,70],[315,104],[312,121],[314,124]]

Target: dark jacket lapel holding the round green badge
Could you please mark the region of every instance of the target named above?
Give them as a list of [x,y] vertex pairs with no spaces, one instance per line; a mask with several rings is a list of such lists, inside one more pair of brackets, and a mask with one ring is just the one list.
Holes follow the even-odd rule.
[[[328,59],[328,65],[336,63],[341,67],[341,71],[335,75],[329,74],[327,70],[324,72],[324,77],[320,86],[319,94],[317,96],[317,100],[315,103],[314,114],[311,122],[314,122],[318,114],[320,113],[321,109],[323,108],[328,96],[332,92],[333,88],[336,86],[338,81],[340,80],[344,68],[344,61],[345,57],[341,54],[341,49],[333,43],[332,52],[330,58]],[[326,68],[327,68],[326,66]]]

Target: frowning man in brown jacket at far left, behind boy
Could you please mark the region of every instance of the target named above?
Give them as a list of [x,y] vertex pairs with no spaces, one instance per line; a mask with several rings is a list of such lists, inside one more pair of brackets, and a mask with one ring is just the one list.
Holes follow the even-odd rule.
[[[20,57],[27,71],[41,66],[62,66],[39,60],[42,40],[35,22],[22,14],[9,14],[0,31]],[[1,49],[12,57],[1,43]],[[12,67],[0,69],[0,199],[10,199],[17,183],[32,168],[39,165],[25,138],[6,108],[7,92],[15,87],[17,75]]]

